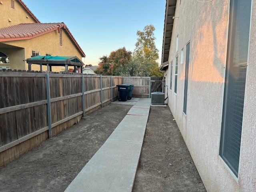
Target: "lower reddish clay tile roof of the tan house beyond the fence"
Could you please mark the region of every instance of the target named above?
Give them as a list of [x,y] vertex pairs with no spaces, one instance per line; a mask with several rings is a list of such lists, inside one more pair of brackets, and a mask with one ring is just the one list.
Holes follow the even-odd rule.
[[6,28],[1,28],[0,42],[31,39],[54,30],[60,30],[60,28],[66,30],[66,33],[76,48],[78,48],[79,52],[82,54],[82,57],[85,57],[82,48],[78,45],[78,42],[76,42],[74,36],[71,34],[70,30],[68,30],[64,23],[22,23]]

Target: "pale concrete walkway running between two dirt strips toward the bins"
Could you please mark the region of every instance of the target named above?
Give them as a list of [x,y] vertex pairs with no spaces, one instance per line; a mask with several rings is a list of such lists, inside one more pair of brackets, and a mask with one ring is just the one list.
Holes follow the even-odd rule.
[[150,98],[132,98],[122,103],[134,106],[65,192],[132,191],[150,102]]

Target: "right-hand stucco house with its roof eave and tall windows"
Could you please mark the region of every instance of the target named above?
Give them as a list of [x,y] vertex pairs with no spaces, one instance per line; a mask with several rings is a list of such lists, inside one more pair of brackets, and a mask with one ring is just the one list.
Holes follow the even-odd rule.
[[255,0],[166,1],[168,118],[208,192],[256,191],[255,52]]

